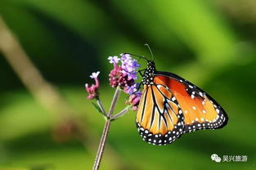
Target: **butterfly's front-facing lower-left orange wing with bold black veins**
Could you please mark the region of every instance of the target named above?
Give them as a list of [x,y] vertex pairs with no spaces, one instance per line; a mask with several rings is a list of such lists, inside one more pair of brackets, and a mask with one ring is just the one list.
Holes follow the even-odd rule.
[[137,110],[137,130],[142,139],[153,145],[166,145],[182,135],[184,117],[168,87],[144,85]]

